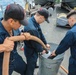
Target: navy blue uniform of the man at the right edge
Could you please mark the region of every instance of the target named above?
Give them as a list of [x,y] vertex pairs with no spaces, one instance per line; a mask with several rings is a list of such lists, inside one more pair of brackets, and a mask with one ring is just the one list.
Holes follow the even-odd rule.
[[68,75],[76,75],[76,24],[67,32],[55,53],[56,55],[61,54],[68,48],[71,51]]

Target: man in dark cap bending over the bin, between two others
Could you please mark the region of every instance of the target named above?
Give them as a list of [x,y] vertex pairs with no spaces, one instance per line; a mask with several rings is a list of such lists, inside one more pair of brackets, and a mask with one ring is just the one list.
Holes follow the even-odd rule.
[[[28,25],[24,28],[24,32],[30,32],[31,35],[34,35],[40,38],[47,48],[50,48],[50,45],[47,44],[45,37],[40,28],[40,24],[44,21],[48,21],[49,13],[47,9],[41,8],[37,11],[37,13],[29,19]],[[25,56],[27,59],[27,69],[26,75],[34,75],[34,69],[36,66],[38,52],[42,52],[44,54],[46,51],[42,48],[42,46],[35,41],[24,41],[25,47]]]

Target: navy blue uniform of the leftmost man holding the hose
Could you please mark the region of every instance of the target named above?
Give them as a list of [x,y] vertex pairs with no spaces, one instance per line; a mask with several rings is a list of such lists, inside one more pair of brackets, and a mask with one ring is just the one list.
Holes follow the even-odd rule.
[[[0,22],[0,44],[3,43],[6,37],[10,37],[10,35],[8,34],[8,32],[5,30],[2,23]],[[26,63],[23,61],[22,57],[17,53],[16,47],[17,47],[17,42],[15,42],[15,47],[13,51],[11,51],[11,55],[10,55],[9,75],[11,75],[13,71],[18,72],[21,75],[25,75]],[[3,52],[0,53],[0,75],[2,75],[3,54],[4,54]]]

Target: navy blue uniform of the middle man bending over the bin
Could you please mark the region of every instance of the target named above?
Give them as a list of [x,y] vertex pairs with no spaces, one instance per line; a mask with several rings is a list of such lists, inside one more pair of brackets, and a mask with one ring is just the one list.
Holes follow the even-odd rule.
[[[30,32],[32,35],[37,36],[40,38],[45,44],[47,44],[44,35],[41,31],[40,25],[36,22],[34,17],[31,17],[29,19],[29,24],[24,28],[25,32]],[[27,70],[26,75],[33,75],[35,65],[38,58],[38,52],[42,52],[43,48],[42,46],[35,42],[35,41],[24,41],[25,43],[25,55],[27,58]]]

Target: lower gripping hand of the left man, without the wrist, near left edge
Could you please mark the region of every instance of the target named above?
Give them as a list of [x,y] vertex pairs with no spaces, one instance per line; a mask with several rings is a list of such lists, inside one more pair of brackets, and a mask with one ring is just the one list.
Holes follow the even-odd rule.
[[3,47],[3,51],[12,51],[14,48],[14,41],[11,41],[8,38],[6,38],[3,42]]

